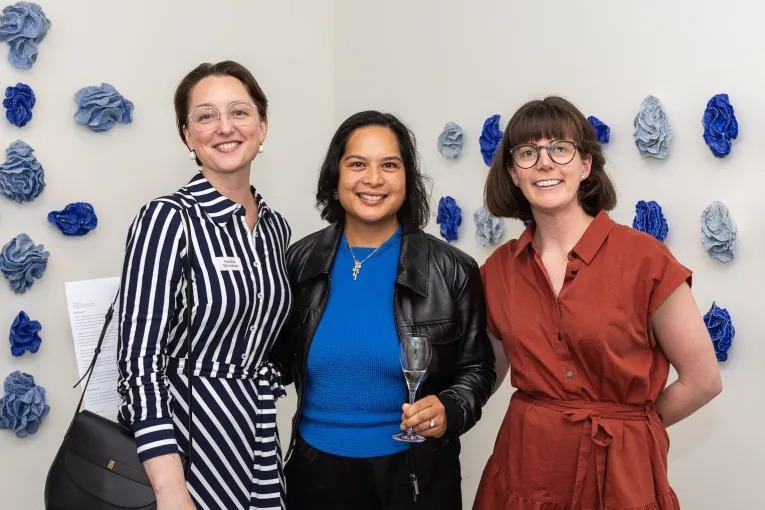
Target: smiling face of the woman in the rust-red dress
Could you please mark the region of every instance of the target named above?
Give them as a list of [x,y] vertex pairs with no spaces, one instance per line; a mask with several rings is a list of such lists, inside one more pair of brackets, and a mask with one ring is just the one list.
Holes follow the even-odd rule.
[[[537,146],[548,145],[552,140],[540,138],[533,140]],[[519,168],[515,162],[509,172],[513,183],[521,189],[526,200],[531,205],[534,214],[559,213],[572,208],[582,209],[578,199],[579,185],[590,175],[592,158],[582,157],[576,151],[574,158],[564,164],[558,164],[547,153],[540,149],[539,160],[531,168]]]

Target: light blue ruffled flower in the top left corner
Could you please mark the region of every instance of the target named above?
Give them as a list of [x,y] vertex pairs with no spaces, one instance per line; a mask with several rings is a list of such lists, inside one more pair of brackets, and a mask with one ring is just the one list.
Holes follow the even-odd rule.
[[14,67],[29,69],[37,60],[37,45],[45,38],[50,20],[42,7],[32,2],[16,2],[0,15],[0,41],[11,46],[8,59]]

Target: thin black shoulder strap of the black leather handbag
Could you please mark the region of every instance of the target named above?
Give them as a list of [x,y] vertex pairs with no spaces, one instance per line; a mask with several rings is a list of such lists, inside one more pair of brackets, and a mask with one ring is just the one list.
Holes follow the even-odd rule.
[[[189,430],[189,454],[188,454],[188,462],[185,466],[185,471],[188,471],[191,467],[191,453],[193,451],[193,442],[192,442],[192,403],[193,403],[193,383],[192,378],[194,376],[194,369],[193,366],[195,365],[195,360],[193,357],[193,353],[191,350],[191,340],[192,340],[192,331],[191,331],[191,309],[192,309],[192,299],[193,299],[193,290],[192,290],[192,278],[193,278],[193,272],[191,269],[191,262],[194,259],[194,243],[191,239],[191,226],[189,224],[189,214],[185,208],[181,209],[181,215],[183,216],[183,222],[184,222],[184,230],[186,231],[186,244],[187,244],[187,250],[186,250],[186,266],[185,266],[185,279],[186,279],[186,339],[188,341],[188,347],[186,349],[186,376],[189,381],[189,424],[188,424],[188,430]],[[72,424],[74,423],[74,419],[77,418],[77,415],[79,414],[80,410],[82,409],[82,403],[85,400],[85,392],[88,391],[88,385],[90,384],[90,378],[93,376],[93,370],[96,367],[96,360],[98,359],[98,355],[101,354],[101,345],[104,343],[104,337],[106,336],[106,331],[109,329],[109,324],[112,321],[112,317],[114,316],[114,305],[117,303],[117,299],[120,295],[120,289],[117,289],[117,294],[114,296],[114,300],[109,305],[109,309],[106,311],[106,315],[104,317],[104,326],[101,328],[101,335],[98,337],[98,342],[96,343],[96,349],[93,352],[93,358],[90,360],[90,365],[88,365],[88,369],[85,370],[85,373],[80,377],[80,380],[77,381],[72,388],[76,388],[85,377],[88,379],[85,381],[85,386],[82,388],[82,395],[80,395],[80,401],[77,403],[77,409],[74,411],[74,416],[72,417]],[[69,428],[71,428],[71,424],[69,425]]]

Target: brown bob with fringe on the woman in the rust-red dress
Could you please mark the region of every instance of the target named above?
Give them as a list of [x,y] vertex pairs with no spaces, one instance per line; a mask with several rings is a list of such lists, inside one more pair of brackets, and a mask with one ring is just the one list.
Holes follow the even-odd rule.
[[579,153],[592,157],[590,175],[579,185],[579,203],[590,216],[616,207],[616,190],[605,171],[606,158],[595,131],[576,106],[557,96],[529,101],[515,112],[486,178],[486,208],[494,216],[533,220],[531,205],[510,177],[510,149],[540,138],[574,140]]

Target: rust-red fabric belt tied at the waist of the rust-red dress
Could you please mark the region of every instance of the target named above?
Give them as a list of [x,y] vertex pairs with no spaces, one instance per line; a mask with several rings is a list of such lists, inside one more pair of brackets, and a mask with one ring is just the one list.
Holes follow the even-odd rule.
[[576,482],[571,499],[572,508],[580,508],[582,489],[587,476],[590,455],[595,449],[595,468],[598,480],[598,509],[605,508],[605,481],[607,471],[608,447],[613,443],[613,422],[649,421],[655,413],[653,403],[646,405],[615,404],[609,402],[591,402],[588,400],[552,400],[534,397],[522,391],[516,391],[513,398],[518,398],[531,405],[558,411],[561,417],[571,423],[582,423],[582,437],[579,442],[579,457],[576,463]]

